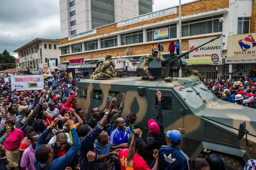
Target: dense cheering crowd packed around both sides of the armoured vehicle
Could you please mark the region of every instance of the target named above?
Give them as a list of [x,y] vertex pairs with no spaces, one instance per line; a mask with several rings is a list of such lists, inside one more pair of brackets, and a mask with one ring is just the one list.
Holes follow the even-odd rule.
[[[45,81],[42,90],[12,91],[10,82],[1,82],[0,169],[225,169],[215,154],[190,162],[180,148],[181,133],[168,130],[165,134],[160,91],[156,94],[157,121],[148,120],[149,135],[145,141],[142,131],[134,128],[136,114],[122,116],[125,93],[121,94],[120,106],[117,99],[108,100],[107,108],[91,108],[92,117],[87,120],[76,104],[80,77],[71,82],[59,76],[59,72],[53,75],[54,79]],[[199,79],[219,99],[256,107],[253,76],[239,80],[220,77],[217,82]],[[152,151],[151,166],[138,154],[139,148]],[[246,166],[255,166],[254,161],[249,160]]]

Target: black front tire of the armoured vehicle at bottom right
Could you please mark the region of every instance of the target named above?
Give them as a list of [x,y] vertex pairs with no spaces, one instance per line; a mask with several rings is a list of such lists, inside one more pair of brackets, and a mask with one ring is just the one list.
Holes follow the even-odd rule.
[[242,158],[221,152],[203,153],[202,158],[206,159],[211,154],[216,154],[222,159],[226,170],[242,170],[245,166],[244,160]]

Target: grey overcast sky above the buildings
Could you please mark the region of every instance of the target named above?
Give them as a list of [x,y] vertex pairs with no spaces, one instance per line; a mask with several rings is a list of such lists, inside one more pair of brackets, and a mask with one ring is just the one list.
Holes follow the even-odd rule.
[[[192,0],[181,0],[186,3]],[[179,0],[154,0],[153,11],[179,4]],[[0,53],[14,50],[36,38],[60,38],[59,0],[0,0]]]

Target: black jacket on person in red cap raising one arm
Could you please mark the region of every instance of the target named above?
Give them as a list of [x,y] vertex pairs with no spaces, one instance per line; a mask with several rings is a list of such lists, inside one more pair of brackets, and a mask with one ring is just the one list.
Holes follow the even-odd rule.
[[163,115],[162,115],[162,102],[158,101],[157,106],[157,124],[159,126],[159,133],[157,135],[149,134],[147,137],[148,143],[146,144],[142,137],[139,138],[141,147],[146,150],[160,149],[162,145],[166,144],[164,126],[163,126]]

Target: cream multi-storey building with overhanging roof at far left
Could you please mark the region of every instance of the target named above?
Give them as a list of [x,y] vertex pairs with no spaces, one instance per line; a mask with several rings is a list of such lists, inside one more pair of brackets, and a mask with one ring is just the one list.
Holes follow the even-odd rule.
[[36,38],[26,45],[14,50],[18,53],[22,73],[46,71],[48,66],[56,67],[59,55],[58,40]]

